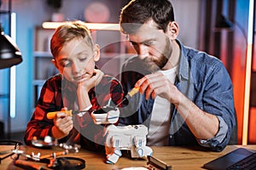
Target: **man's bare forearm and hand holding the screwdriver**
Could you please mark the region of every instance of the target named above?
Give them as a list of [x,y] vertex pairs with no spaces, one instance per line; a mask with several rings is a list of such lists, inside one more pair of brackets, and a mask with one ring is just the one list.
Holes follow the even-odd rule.
[[202,111],[178,91],[162,73],[156,72],[141,78],[135,84],[135,88],[140,88],[140,93],[145,93],[146,99],[149,99],[150,95],[153,98],[159,95],[168,99],[183,116],[195,138],[211,139],[218,133],[218,117]]

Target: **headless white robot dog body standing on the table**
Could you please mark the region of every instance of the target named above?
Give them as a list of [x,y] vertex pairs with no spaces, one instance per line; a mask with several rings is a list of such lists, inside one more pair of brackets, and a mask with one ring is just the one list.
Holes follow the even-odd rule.
[[121,150],[131,150],[132,158],[151,156],[153,150],[146,146],[148,128],[143,125],[129,125],[116,127],[109,125],[106,129],[107,138],[105,143],[107,162],[116,163]]

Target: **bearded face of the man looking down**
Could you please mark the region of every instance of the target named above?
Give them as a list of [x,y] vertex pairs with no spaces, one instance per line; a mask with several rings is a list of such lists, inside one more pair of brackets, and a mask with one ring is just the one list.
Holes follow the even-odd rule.
[[148,71],[162,70],[171,57],[170,39],[164,31],[156,27],[153,20],[143,24],[135,33],[129,34],[129,41]]

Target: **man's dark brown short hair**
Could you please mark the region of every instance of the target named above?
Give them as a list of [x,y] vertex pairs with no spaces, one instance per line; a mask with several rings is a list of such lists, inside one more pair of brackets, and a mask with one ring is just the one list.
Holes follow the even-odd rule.
[[168,0],[131,0],[121,10],[119,24],[125,34],[137,31],[148,20],[154,20],[158,29],[166,32],[174,21],[172,3]]

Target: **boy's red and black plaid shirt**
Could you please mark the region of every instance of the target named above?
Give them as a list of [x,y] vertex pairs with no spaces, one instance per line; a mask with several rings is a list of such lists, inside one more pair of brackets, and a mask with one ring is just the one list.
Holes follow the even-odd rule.
[[[123,98],[123,90],[118,80],[104,76],[95,88],[90,89],[89,97],[92,105],[91,111],[93,111],[104,105],[118,104]],[[79,109],[76,87],[58,74],[50,77],[41,89],[36,109],[30,122],[27,123],[25,143],[32,144],[33,137],[44,139],[47,135],[52,136],[51,128],[54,127],[54,122],[46,115],[50,111],[61,111],[63,107],[73,111]],[[59,143],[81,144],[87,150],[102,149],[104,127],[96,125],[90,114],[84,114],[81,117],[74,115],[73,125],[73,130],[67,137],[60,139]]]

